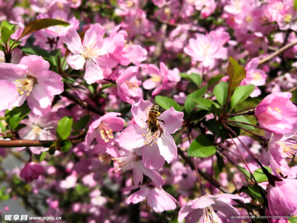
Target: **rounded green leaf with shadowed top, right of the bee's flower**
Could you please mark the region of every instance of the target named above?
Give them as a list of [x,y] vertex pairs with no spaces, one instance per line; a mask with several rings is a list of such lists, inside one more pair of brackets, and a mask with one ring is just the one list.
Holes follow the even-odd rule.
[[216,152],[217,148],[201,134],[197,136],[188,149],[188,156],[207,157]]

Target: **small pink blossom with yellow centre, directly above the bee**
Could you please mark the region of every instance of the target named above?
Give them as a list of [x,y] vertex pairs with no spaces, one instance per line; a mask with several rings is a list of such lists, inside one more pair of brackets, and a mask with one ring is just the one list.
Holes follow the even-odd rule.
[[143,87],[145,89],[155,88],[152,95],[157,95],[162,90],[163,85],[168,82],[168,67],[161,62],[160,70],[154,64],[148,65],[146,69],[151,78],[143,82]]

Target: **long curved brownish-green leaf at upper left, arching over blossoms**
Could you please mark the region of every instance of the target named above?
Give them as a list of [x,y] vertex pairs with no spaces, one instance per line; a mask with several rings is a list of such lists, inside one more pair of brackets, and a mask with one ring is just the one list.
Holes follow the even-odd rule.
[[22,34],[18,38],[18,40],[23,38],[26,35],[29,35],[29,34],[35,32],[35,31],[38,31],[40,29],[46,29],[50,26],[69,26],[69,25],[70,25],[70,23],[67,23],[65,21],[58,20],[58,19],[50,19],[50,18],[36,19],[36,20],[30,22],[25,27]]

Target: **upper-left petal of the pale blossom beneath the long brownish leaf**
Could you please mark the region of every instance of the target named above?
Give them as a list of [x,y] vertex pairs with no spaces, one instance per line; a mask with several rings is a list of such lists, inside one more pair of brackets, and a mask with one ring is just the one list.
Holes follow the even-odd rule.
[[69,29],[66,36],[63,37],[64,43],[73,54],[83,53],[83,45],[81,39],[75,29]]

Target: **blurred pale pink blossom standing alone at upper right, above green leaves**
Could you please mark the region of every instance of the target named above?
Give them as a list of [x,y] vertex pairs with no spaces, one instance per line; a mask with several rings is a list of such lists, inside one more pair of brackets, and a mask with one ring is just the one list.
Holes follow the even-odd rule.
[[203,62],[204,67],[214,64],[214,59],[223,58],[227,54],[227,49],[222,47],[220,39],[214,34],[197,34],[197,39],[190,39],[189,46],[184,51],[192,56],[194,61]]

